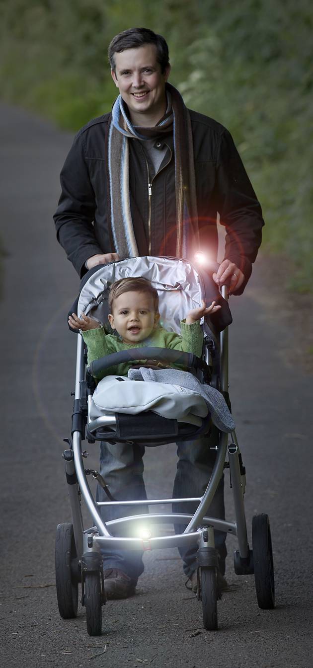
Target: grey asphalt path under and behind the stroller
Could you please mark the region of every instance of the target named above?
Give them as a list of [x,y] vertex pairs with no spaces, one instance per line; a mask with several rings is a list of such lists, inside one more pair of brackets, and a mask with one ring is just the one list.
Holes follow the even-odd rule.
[[[253,576],[236,576],[219,631],[204,631],[176,550],[146,555],[135,597],[110,601],[103,633],[86,633],[84,609],[60,618],[54,580],[56,524],[70,520],[62,438],[70,431],[76,339],[66,313],[78,277],[56,242],[51,216],[71,136],[0,106],[2,665],[27,667],[307,668],[312,665],[312,375],[294,363],[301,341],[280,323],[262,260],[243,297],[231,299],[231,401],[247,468],[245,508],[270,515],[276,609],[257,607]],[[3,322],[4,321],[4,322]],[[89,446],[97,462],[97,446]],[[175,446],[145,455],[150,497],[171,494]],[[227,479],[227,516],[233,519]]]

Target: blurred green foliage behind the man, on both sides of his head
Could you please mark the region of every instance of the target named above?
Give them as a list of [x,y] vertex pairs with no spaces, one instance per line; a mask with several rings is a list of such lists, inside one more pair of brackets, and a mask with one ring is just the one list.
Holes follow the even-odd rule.
[[264,208],[264,243],[313,284],[311,0],[0,1],[2,96],[77,130],[116,96],[112,36],[130,25],[170,45],[171,81],[235,139]]

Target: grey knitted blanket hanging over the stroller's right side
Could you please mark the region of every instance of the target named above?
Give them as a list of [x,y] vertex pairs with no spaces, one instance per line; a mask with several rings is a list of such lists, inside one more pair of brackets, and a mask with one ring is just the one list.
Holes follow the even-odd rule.
[[215,387],[210,385],[201,385],[200,381],[189,373],[189,371],[179,371],[179,369],[148,369],[140,367],[140,369],[129,369],[128,378],[131,380],[144,380],[150,383],[169,383],[169,385],[179,385],[192,389],[194,392],[205,399],[207,407],[211,413],[213,424],[221,432],[232,432],[235,429],[235,422],[231,417],[231,413],[227,403]]

